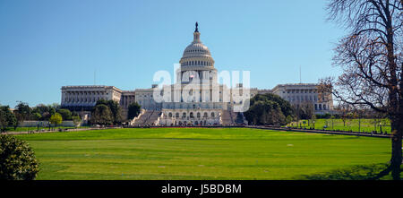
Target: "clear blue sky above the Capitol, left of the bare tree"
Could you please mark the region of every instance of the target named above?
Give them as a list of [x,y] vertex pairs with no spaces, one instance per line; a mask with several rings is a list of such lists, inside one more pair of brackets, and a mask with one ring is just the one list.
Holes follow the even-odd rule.
[[0,104],[60,103],[64,85],[149,88],[173,72],[199,22],[222,70],[251,71],[251,86],[336,76],[332,49],[345,34],[326,1],[0,1]]

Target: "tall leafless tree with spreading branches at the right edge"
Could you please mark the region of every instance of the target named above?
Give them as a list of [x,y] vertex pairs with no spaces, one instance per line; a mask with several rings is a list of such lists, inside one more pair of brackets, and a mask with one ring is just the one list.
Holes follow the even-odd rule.
[[329,20],[349,31],[335,48],[333,64],[343,73],[322,79],[322,89],[351,105],[365,105],[390,118],[390,167],[399,179],[402,163],[402,0],[330,0]]

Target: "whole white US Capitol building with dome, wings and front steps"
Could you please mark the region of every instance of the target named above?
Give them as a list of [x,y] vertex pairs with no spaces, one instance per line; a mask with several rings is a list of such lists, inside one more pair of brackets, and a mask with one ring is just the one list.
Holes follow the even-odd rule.
[[[176,70],[176,83],[151,85],[148,89],[119,90],[114,86],[63,86],[62,108],[81,112],[84,119],[99,99],[115,100],[127,117],[128,107],[137,102],[141,114],[130,125],[236,125],[245,122],[242,112],[256,94],[274,93],[294,106],[313,104],[315,114],[333,109],[331,94],[318,91],[316,83],[279,84],[272,90],[246,88],[243,83],[227,88],[219,84],[218,71],[208,47],[201,43],[196,22],[193,42],[184,49]],[[158,93],[158,94],[156,94]],[[156,98],[157,96],[157,98]],[[248,103],[249,104],[249,103]]]

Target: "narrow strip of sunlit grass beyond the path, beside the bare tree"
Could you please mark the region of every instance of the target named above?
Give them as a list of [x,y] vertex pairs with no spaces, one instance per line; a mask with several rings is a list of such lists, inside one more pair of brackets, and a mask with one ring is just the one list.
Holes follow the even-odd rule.
[[[380,126],[379,123],[382,123]],[[371,133],[376,131],[377,133],[390,133],[390,123],[383,119],[382,122],[378,121],[375,127],[373,119],[350,119],[346,123],[343,123],[342,119],[316,119],[314,123],[315,129],[325,129],[325,130],[339,130],[339,131],[353,131],[353,132],[366,132]],[[309,125],[308,125],[309,124]],[[293,122],[288,126],[302,126],[302,127],[313,127],[312,122],[308,123],[308,120],[300,120],[299,122]],[[326,126],[326,127],[324,127]]]

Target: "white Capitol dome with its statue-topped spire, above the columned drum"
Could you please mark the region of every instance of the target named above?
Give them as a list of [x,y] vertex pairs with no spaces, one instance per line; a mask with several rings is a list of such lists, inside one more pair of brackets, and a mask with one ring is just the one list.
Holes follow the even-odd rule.
[[179,61],[181,67],[214,67],[209,47],[204,46],[200,40],[200,32],[196,22],[193,32],[193,42],[184,49],[184,55]]

